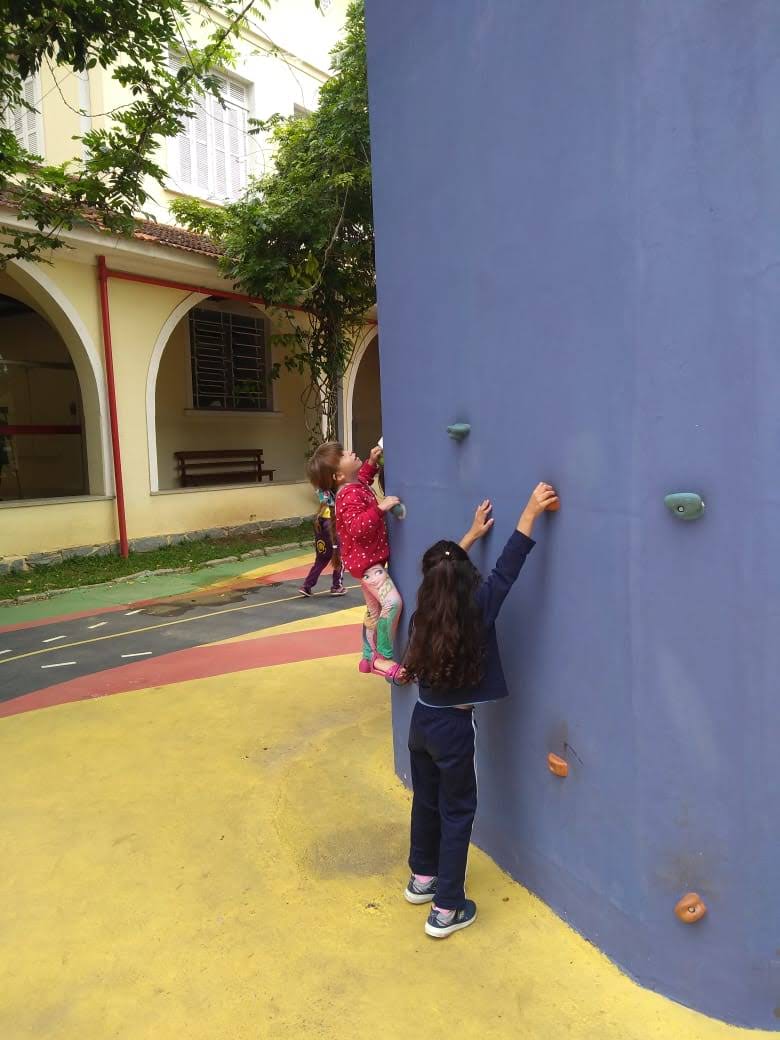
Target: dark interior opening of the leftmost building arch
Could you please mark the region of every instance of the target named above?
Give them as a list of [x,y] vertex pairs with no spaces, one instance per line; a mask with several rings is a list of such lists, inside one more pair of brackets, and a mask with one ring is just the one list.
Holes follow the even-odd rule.
[[89,494],[86,423],[68,345],[0,278],[0,501]]

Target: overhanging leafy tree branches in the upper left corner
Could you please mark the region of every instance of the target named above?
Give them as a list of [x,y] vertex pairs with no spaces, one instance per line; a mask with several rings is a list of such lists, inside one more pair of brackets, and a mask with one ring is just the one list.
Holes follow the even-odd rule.
[[[193,8],[186,0],[0,0],[0,192],[35,229],[0,224],[0,267],[10,259],[46,259],[63,244],[60,233],[80,222],[130,234],[149,198],[145,182],[164,180],[155,160],[160,140],[181,130],[199,95],[218,97],[212,70],[230,63],[231,36],[250,10],[268,5],[213,0],[203,8],[208,41],[197,48],[188,38]],[[187,56],[178,72],[170,67],[172,49]],[[56,166],[26,151],[7,125],[32,109],[25,81],[43,64],[55,81],[62,73],[110,67],[131,99],[108,113],[107,127],[81,137],[84,158]]]

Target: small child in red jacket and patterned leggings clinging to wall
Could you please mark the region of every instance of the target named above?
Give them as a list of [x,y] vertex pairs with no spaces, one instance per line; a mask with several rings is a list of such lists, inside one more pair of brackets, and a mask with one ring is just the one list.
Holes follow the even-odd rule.
[[387,569],[390,546],[385,515],[398,504],[388,495],[380,501],[371,490],[382,448],[371,450],[368,462],[341,444],[321,444],[312,458],[318,465],[333,467],[336,494],[336,531],[343,566],[358,578],[366,600],[363,623],[361,672],[394,678],[398,666],[393,660],[393,640],[398,627],[401,599]]

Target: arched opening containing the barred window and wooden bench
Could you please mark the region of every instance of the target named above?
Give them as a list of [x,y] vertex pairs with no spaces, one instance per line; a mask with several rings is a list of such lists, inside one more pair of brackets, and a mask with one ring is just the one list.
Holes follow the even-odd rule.
[[271,378],[271,332],[249,303],[193,293],[174,308],[147,382],[153,493],[257,483],[254,452],[262,452],[261,483],[302,479],[303,382]]

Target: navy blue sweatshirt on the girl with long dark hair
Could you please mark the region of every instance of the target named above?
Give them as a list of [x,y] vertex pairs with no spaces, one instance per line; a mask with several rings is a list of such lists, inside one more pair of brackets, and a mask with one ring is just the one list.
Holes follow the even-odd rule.
[[509,696],[501,658],[498,653],[496,618],[510,589],[522,570],[525,557],[535,545],[534,539],[516,530],[504,545],[503,551],[487,580],[483,581],[476,591],[476,601],[482,608],[485,622],[486,647],[483,681],[478,686],[467,690],[450,690],[443,686],[434,687],[420,684],[419,696],[422,704],[426,704],[428,707],[446,708],[454,707],[458,704],[482,704],[485,701],[497,701]]

